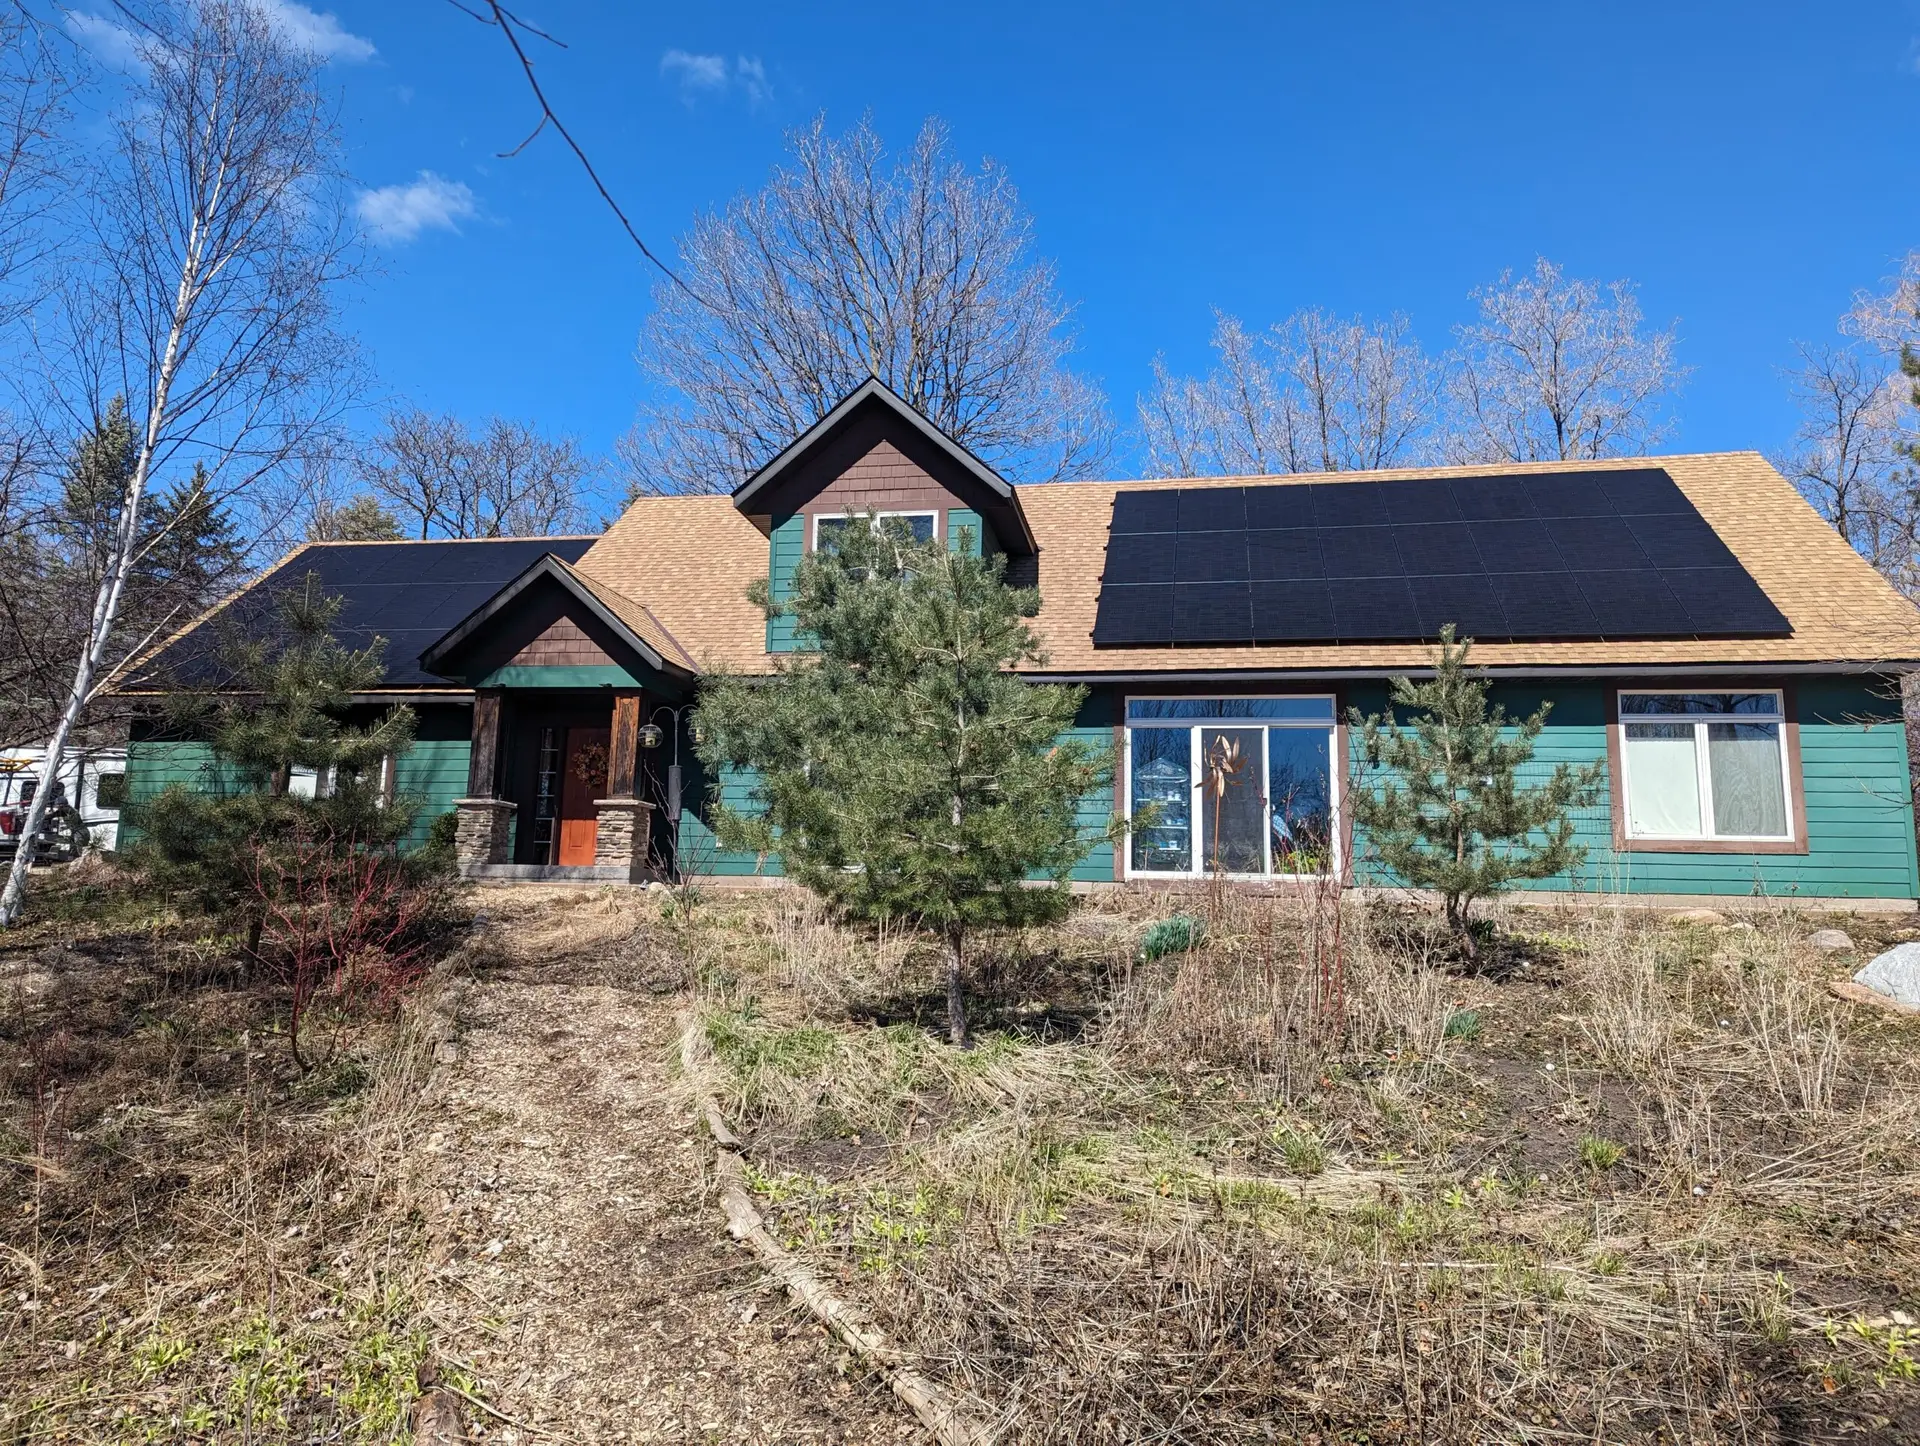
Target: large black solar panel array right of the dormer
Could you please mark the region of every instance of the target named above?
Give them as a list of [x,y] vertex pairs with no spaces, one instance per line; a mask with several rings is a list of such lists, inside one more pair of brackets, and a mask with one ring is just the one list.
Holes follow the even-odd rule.
[[1763,638],[1791,626],[1665,469],[1114,497],[1096,645]]

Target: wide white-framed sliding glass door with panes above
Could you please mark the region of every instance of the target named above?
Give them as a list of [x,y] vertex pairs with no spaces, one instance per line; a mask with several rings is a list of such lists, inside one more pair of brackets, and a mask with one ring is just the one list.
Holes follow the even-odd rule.
[[1129,874],[1302,876],[1334,866],[1331,697],[1127,699]]

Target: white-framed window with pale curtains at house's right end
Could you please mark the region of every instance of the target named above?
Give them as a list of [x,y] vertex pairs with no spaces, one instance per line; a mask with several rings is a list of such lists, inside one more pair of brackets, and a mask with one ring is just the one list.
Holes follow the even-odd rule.
[[1778,691],[1620,693],[1628,839],[1793,839]]

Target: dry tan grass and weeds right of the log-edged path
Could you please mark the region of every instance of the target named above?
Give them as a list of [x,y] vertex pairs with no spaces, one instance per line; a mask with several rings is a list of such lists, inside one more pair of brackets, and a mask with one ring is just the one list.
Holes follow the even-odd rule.
[[[1140,960],[1173,908],[1204,943]],[[1488,979],[1344,910],[1329,983],[1327,901],[1096,901],[991,951],[973,1058],[910,939],[743,906],[703,1073],[1008,1440],[1920,1433],[1920,1031],[1799,920],[1515,912]]]

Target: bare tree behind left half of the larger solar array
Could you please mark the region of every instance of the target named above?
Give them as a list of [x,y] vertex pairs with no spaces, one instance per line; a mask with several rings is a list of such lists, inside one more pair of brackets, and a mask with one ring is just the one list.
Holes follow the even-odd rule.
[[1204,378],[1154,359],[1139,399],[1150,465],[1175,476],[1346,472],[1421,461],[1438,373],[1404,315],[1369,323],[1296,311],[1261,334],[1215,313]]

